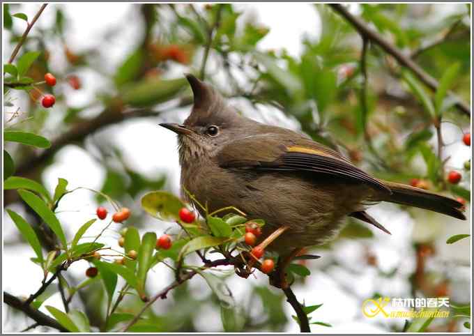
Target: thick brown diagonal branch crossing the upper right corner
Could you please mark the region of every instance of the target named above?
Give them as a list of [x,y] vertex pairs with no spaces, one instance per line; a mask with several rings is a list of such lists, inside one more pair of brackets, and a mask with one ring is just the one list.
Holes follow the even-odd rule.
[[[352,24],[352,26],[361,36],[379,45],[383,50],[385,50],[385,52],[392,55],[398,61],[398,63],[410,69],[416,75],[416,77],[418,77],[418,79],[420,79],[420,81],[422,81],[424,84],[429,86],[431,90],[436,91],[436,89],[438,89],[438,81],[436,81],[436,79],[431,77],[431,75],[425,72],[425,70],[418,66],[418,64],[412,59],[402,54],[399,49],[386,41],[383,36],[370,29],[366,22],[349,13],[349,11],[339,3],[329,3],[328,6],[330,6],[333,10],[339,13],[339,15],[342,15],[342,17],[349,21],[349,23]],[[450,95],[457,100],[457,109],[467,116],[471,116],[471,108],[466,104],[466,102],[463,102],[461,98],[454,96],[452,93],[450,93]]]

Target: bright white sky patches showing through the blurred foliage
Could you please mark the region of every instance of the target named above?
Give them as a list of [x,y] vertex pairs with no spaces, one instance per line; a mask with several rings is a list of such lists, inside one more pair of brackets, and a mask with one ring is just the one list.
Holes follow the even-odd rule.
[[[50,4],[49,7],[59,6]],[[134,37],[137,36],[142,27],[140,24],[135,24],[139,18],[135,11],[131,10],[132,5],[127,3],[68,3],[63,6],[67,16],[66,40],[68,44],[74,48],[76,52],[81,50],[97,48],[100,51],[100,56],[107,59],[104,64],[104,71],[113,73],[116,66],[127,56],[135,47]],[[285,47],[291,54],[298,56],[302,51],[300,39],[303,36],[311,36],[316,38],[319,31],[319,17],[313,6],[305,3],[254,3],[254,4],[239,4],[237,8],[253,8],[256,14],[257,21],[270,28],[270,33],[259,43],[261,49],[281,49]],[[49,10],[48,10],[49,9]],[[54,10],[47,8],[41,16],[38,26],[50,26],[54,24]],[[22,12],[32,17],[36,10],[37,4],[25,4],[22,6]],[[447,11],[445,11],[447,12]],[[105,15],[107,13],[107,15]],[[13,20],[15,29],[22,31],[24,27],[21,20]],[[106,45],[98,45],[103,39],[102,36],[105,31],[111,27],[118,27],[118,35],[109,40]],[[34,28],[33,28],[34,31]],[[11,52],[8,43],[8,33],[3,35],[3,60],[8,58]],[[54,44],[57,41],[51,41]],[[54,49],[53,49],[54,50]],[[52,52],[52,72],[61,72],[64,68],[64,62],[61,59],[62,52],[54,54]],[[197,60],[199,63],[199,59]],[[212,65],[212,63],[211,63]],[[185,68],[177,68],[176,73],[179,75]],[[181,72],[180,72],[181,71]],[[67,87],[64,90],[68,91],[68,105],[81,106],[86,102],[95,99],[95,93],[111,85],[107,83],[103,77],[100,77],[92,71],[79,72],[82,78],[83,88],[79,91],[72,91]],[[236,100],[237,104],[244,104],[240,100]],[[61,109],[64,105],[55,105],[54,109]],[[248,108],[247,105],[245,107]],[[97,113],[100,108],[89,111],[90,114]],[[265,116],[274,116],[277,112],[271,109],[264,109],[262,107],[260,114],[255,114],[254,111],[246,110],[252,117],[259,117],[265,119]],[[178,192],[179,181],[179,167],[178,156],[176,152],[176,138],[174,134],[158,127],[158,122],[162,120],[179,121],[183,120],[189,113],[189,109],[181,109],[160,119],[137,119],[126,121],[120,125],[113,126],[114,132],[102,133],[95,136],[98,142],[102,140],[112,141],[118,146],[124,156],[127,158],[130,166],[137,171],[146,174],[146,176],[157,176],[163,172],[167,173],[168,185]],[[280,125],[289,128],[298,128],[298,125],[283,114],[277,114],[277,121]],[[52,124],[54,124],[54,113],[52,116]],[[446,142],[450,142],[449,138],[456,135],[457,130],[450,128],[449,124],[445,124]],[[105,139],[110,137],[111,133],[114,135],[112,139]],[[49,137],[54,137],[54,128],[50,130]],[[462,163],[469,156],[470,148],[454,144],[450,147],[450,153],[453,153],[453,158],[450,165],[454,167],[462,167]],[[105,178],[105,171],[102,169],[97,159],[84,151],[84,149],[77,146],[66,146],[59,153],[56,154],[54,165],[51,165],[43,173],[43,181],[49,190],[54,190],[57,178],[66,178],[69,181],[70,188],[77,186],[84,186],[93,189],[100,189],[103,178]],[[131,205],[134,204],[130,200]],[[77,228],[89,220],[94,215],[95,201],[90,192],[75,192],[68,195],[65,201],[61,202],[59,215],[63,226],[66,227],[69,237],[77,230]],[[132,206],[139,211],[137,201]],[[13,206],[15,211],[21,209]],[[359,243],[355,241],[342,241],[335,245],[331,252],[321,252],[323,258],[318,261],[309,261],[309,266],[312,268],[312,275],[307,278],[304,286],[296,286],[295,291],[298,298],[305,298],[307,305],[314,305],[324,303],[323,307],[313,313],[314,321],[324,321],[331,323],[333,328],[325,328],[321,326],[312,326],[314,332],[380,332],[388,330],[386,321],[376,319],[365,319],[360,312],[360,305],[362,300],[369,298],[374,291],[385,293],[389,296],[408,296],[408,282],[404,281],[406,274],[413,271],[413,250],[409,242],[411,235],[425,236],[430,232],[439,234],[438,255],[443,256],[446,261],[455,257],[464,261],[469,261],[468,240],[461,241],[457,245],[445,245],[445,238],[452,234],[459,234],[468,230],[468,222],[459,222],[452,220],[449,217],[442,215],[429,215],[431,225],[423,227],[419,224],[415,225],[408,213],[399,211],[397,206],[391,204],[381,204],[371,209],[370,213],[379,219],[390,231],[392,236],[381,234],[379,231],[374,231],[376,238],[369,241],[369,246],[379,259],[379,264],[385,271],[390,271],[395,266],[403,265],[399,270],[402,277],[393,277],[386,279],[376,274],[373,268],[365,265],[363,260],[364,247],[367,242]],[[466,212],[470,213],[470,212]],[[415,212],[415,216],[427,217],[427,212]],[[16,234],[16,229],[10,221],[8,215],[4,215],[5,225],[3,227],[4,239],[12,239]],[[105,221],[104,221],[105,222]],[[420,222],[427,222],[421,220]],[[150,222],[150,227],[147,230],[155,230],[160,234],[169,224],[157,224],[155,221]],[[100,231],[101,227],[96,228]],[[413,232],[413,229],[415,230]],[[439,231],[438,231],[439,230]],[[93,233],[91,230],[90,233]],[[116,246],[116,238],[119,234],[109,231],[109,234],[104,239],[104,242],[112,246]],[[13,293],[14,295],[27,296],[29,293],[36,291],[40,285],[41,272],[40,268],[30,263],[29,257],[33,253],[26,245],[8,245],[4,247],[3,254],[3,289]],[[326,261],[325,261],[326,259]],[[324,271],[319,270],[328,261],[335,259],[344,267],[331,266]],[[20,266],[20,267],[19,267]],[[70,268],[70,272],[77,279],[84,276],[84,270],[88,267],[87,263],[79,262]],[[355,274],[348,273],[352,270]],[[257,272],[258,273],[258,272]],[[266,284],[263,275],[257,275],[258,279],[247,280],[251,282],[258,282]],[[469,279],[468,275],[466,275]],[[336,281],[337,280],[337,281]],[[158,266],[156,271],[151,274],[148,280],[148,291],[153,293],[162,287],[165,287],[172,281],[172,275],[167,273],[165,268]],[[193,287],[199,287],[199,291],[193,291],[199,296],[204,296],[209,293],[209,289],[203,280],[194,278],[191,281]],[[229,281],[234,296],[238,300],[245,301],[248,284],[246,280],[239,277],[231,277]],[[453,286],[454,287],[454,286]],[[167,299],[172,300],[172,295]],[[62,309],[59,295],[55,295],[49,299],[46,304],[51,304]],[[154,305],[155,310],[164,312],[167,303],[161,301]],[[256,308],[257,310],[259,307]],[[43,309],[44,312],[47,312]],[[286,305],[287,316],[291,316],[293,311],[289,305]],[[5,312],[5,310],[3,310]],[[15,321],[12,324],[6,324],[6,330],[18,331],[22,328],[22,321]],[[393,321],[399,323],[401,326],[403,321]],[[197,328],[201,331],[219,331],[222,326],[220,324],[220,312],[217,310],[210,310],[203,307],[201,317],[197,319]],[[26,326],[26,325],[25,325]],[[296,332],[298,326],[290,319],[285,331]]]

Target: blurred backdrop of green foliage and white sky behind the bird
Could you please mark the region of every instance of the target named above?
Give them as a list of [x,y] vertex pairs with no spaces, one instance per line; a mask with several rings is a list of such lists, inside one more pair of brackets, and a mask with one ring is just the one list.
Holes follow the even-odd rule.
[[[10,4],[3,10],[31,18],[39,7]],[[470,5],[351,4],[347,8],[434,78],[459,64],[450,89],[470,105]],[[5,21],[3,26],[3,62],[26,27],[18,17],[10,20],[10,26]],[[150,190],[179,194],[176,137],[158,123],[181,122],[188,116],[192,95],[183,73],[204,72],[206,81],[252,119],[305,132],[377,177],[422,183],[423,188],[466,199],[465,222],[377,204],[368,212],[391,236],[348,219],[336,240],[309,249],[321,258],[305,261],[312,274],[297,277],[293,289],[307,305],[323,304],[312,313],[312,321],[332,326],[312,325],[313,332],[402,330],[404,319],[368,319],[362,314],[362,302],[377,295],[448,296],[451,303],[470,302],[471,238],[452,245],[445,242],[455,234],[471,233],[471,173],[465,168],[471,148],[462,142],[471,119],[446,102],[441,123],[445,145],[438,151],[434,122],[423,102],[424,97],[433,99],[431,91],[378,45],[367,43],[362,53],[358,32],[330,7],[52,3],[33,26],[19,56],[31,50],[41,54],[28,76],[38,82],[52,72],[58,84],[38,88],[54,94],[56,104],[44,109],[35,90],[4,87],[4,128],[43,135],[52,147],[41,150],[7,143],[16,176],[36,180],[50,192],[58,178],[68,180],[68,189],[100,190],[132,209],[128,222],[139,231],[161,234],[173,225],[149,217],[139,206],[140,197]],[[462,175],[458,185],[445,181],[452,170]],[[15,190],[4,190],[3,197],[4,208],[38,224]],[[88,190],[61,200],[56,213],[68,239],[94,216],[100,201]],[[98,234],[105,222],[100,225],[91,227],[88,235]],[[120,229],[119,224],[112,225],[100,238],[102,243],[118,247]],[[4,291],[26,297],[38,289],[43,274],[29,260],[33,255],[4,212]],[[66,280],[82,281],[87,267],[86,261],[73,264]],[[243,330],[298,331],[281,291],[257,273],[247,280],[236,275],[226,279],[242,307]],[[149,275],[148,293],[173,279],[171,270],[159,264]],[[62,310],[59,292],[56,286],[52,289],[47,304]],[[98,326],[105,300],[98,283],[79,291],[72,305],[86,312],[91,326]],[[137,312],[142,305],[132,297],[122,309]],[[148,317],[155,319],[156,326],[147,331],[222,331],[218,306],[206,282],[194,277],[167,300],[153,304]],[[49,314],[43,307],[40,310]],[[429,331],[467,332],[466,321],[436,319]],[[30,324],[24,314],[3,305],[5,332]]]

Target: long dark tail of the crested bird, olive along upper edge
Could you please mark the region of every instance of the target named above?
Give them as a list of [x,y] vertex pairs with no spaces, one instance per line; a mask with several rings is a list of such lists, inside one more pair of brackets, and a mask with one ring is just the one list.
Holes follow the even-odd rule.
[[463,204],[455,199],[435,194],[420,188],[411,187],[395,182],[382,181],[390,190],[392,194],[386,195],[381,199],[397,204],[404,204],[406,206],[415,206],[417,208],[435,211],[436,213],[443,213],[459,220],[466,220],[466,216],[462,213]]

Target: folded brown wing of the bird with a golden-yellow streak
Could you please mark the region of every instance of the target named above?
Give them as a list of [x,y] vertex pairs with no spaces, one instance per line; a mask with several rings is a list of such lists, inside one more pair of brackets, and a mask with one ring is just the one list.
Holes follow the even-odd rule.
[[304,137],[274,133],[243,137],[225,145],[216,158],[222,168],[308,171],[339,176],[391,193],[381,181],[336,151]]

